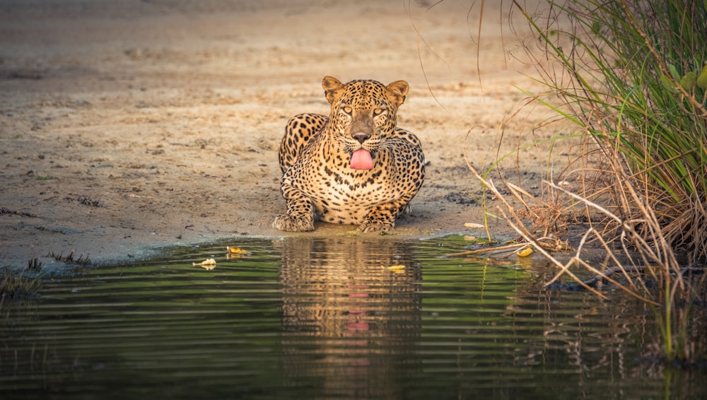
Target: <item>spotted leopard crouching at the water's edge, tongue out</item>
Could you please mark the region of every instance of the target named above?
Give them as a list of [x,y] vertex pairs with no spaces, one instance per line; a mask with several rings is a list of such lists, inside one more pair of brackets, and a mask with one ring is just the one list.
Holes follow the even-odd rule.
[[322,80],[329,115],[303,113],[288,120],[278,158],[287,211],[273,228],[315,229],[315,220],[387,233],[425,179],[421,141],[397,127],[409,84]]

